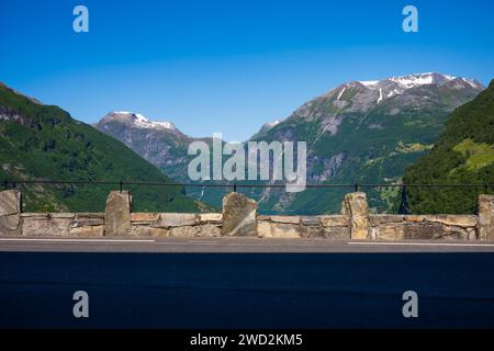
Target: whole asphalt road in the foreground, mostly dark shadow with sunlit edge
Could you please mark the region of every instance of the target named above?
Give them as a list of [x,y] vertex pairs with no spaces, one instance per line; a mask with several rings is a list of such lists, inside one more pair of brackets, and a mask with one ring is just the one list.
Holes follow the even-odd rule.
[[492,244],[3,239],[0,328],[494,328]]

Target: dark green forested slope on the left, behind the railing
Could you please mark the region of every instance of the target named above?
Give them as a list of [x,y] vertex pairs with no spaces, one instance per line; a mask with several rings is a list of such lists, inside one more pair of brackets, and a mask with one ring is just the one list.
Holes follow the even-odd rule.
[[[171,182],[122,143],[0,84],[0,180]],[[24,211],[103,211],[117,186],[20,185]],[[128,189],[128,188],[127,188]],[[135,211],[195,211],[183,189],[131,186]]]

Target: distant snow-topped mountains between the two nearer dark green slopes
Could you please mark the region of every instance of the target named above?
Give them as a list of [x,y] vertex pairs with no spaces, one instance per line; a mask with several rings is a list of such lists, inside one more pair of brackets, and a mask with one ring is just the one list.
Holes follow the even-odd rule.
[[[343,83],[266,123],[249,140],[306,141],[307,182],[366,184],[401,182],[405,168],[434,147],[448,115],[484,87],[468,78],[437,72]],[[190,182],[187,166],[193,138],[170,122],[151,122],[138,113],[112,112],[96,127],[180,182]],[[315,214],[339,210],[349,189],[248,190],[265,213]],[[226,190],[225,190],[226,192]],[[224,192],[191,189],[188,194],[221,205]],[[368,190],[374,211],[395,210],[397,190]]]

